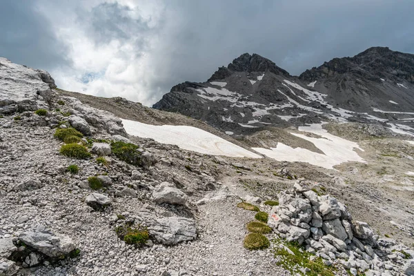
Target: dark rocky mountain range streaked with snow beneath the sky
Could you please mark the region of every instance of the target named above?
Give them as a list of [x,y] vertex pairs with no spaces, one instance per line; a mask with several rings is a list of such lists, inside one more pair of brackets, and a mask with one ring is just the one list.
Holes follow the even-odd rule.
[[172,87],[153,107],[236,135],[321,121],[373,122],[409,130],[399,125],[411,120],[398,119],[414,114],[413,64],[414,55],[370,48],[294,77],[264,57],[244,54],[207,82]]

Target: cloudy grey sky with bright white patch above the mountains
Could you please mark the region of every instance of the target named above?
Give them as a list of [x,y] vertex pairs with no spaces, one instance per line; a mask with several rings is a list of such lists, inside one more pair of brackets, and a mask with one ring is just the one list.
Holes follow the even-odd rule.
[[413,0],[3,0],[0,56],[152,105],[244,52],[292,75],[371,46],[414,53]]

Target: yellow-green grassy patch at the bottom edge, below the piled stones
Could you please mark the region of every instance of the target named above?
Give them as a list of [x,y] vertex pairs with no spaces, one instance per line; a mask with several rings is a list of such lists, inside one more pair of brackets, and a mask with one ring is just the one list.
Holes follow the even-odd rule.
[[[275,249],[275,256],[279,259],[277,265],[290,271],[292,275],[335,275],[335,268],[326,266],[321,257],[316,257],[315,255],[308,253],[305,248],[299,246],[297,242],[282,242],[281,240],[278,240],[277,242],[284,245]],[[305,274],[299,268],[308,268],[308,272]]]

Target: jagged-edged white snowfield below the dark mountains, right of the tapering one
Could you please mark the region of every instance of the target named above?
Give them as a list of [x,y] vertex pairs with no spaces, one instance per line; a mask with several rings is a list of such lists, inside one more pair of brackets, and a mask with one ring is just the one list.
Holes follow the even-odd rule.
[[357,143],[331,135],[327,130],[322,128],[322,124],[299,126],[299,131],[311,132],[322,136],[322,138],[314,138],[298,133],[292,133],[297,137],[311,141],[317,148],[322,150],[324,154],[306,150],[305,148],[291,148],[282,143],[277,143],[276,148],[253,148],[253,150],[276,159],[277,161],[302,161],[328,169],[333,169],[333,166],[348,161],[366,163],[366,161],[355,151],[355,148],[362,150]]

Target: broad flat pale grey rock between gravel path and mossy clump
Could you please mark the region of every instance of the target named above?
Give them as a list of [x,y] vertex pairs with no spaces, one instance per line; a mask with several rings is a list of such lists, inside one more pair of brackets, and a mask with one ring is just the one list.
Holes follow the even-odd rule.
[[161,244],[173,245],[197,237],[195,221],[186,217],[163,217],[148,227],[150,235]]

